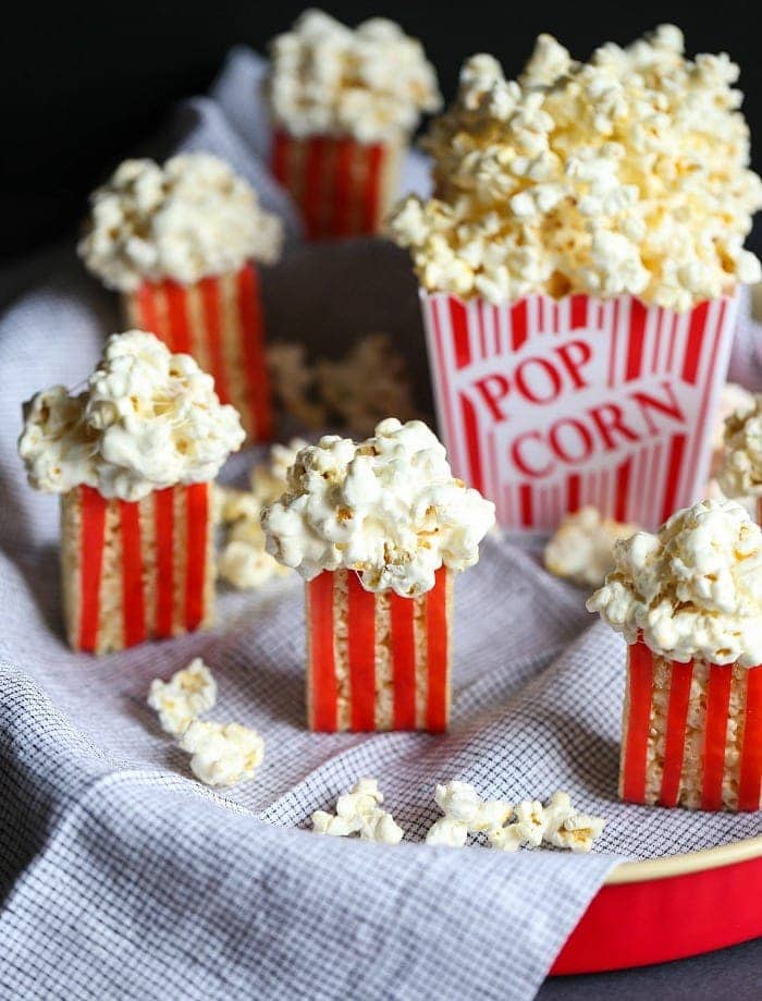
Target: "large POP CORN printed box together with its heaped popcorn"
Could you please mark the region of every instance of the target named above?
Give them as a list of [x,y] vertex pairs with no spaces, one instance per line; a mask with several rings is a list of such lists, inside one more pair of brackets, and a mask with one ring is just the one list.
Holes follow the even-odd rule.
[[[762,184],[726,56],[663,25],[524,74],[469,59],[391,230],[420,282],[454,471],[501,524],[592,504],[654,529],[698,499]],[[649,483],[643,490],[642,484]]]

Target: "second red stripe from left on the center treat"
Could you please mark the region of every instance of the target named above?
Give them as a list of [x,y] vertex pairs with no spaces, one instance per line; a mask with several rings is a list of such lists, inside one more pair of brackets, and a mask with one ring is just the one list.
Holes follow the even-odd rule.
[[376,595],[347,573],[352,729],[376,729]]

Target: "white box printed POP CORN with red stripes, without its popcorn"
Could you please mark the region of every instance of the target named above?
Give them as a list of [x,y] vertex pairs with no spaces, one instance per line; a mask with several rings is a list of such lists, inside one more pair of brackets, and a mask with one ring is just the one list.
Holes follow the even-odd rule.
[[501,525],[552,530],[592,504],[655,529],[698,499],[735,297],[683,314],[629,295],[420,297],[453,471]]

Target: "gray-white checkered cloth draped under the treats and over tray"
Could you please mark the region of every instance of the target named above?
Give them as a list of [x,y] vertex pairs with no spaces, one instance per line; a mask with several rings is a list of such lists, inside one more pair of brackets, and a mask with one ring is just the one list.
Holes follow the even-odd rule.
[[[426,405],[405,255],[378,241],[298,243],[261,166],[260,74],[236,50],[212,98],[183,106],[147,149],[220,152],[286,219],[291,248],[265,276],[271,335],[337,353],[388,330]],[[7,295],[35,284],[0,318],[0,997],[526,999],[620,858],[759,831],[753,815],[617,802],[624,647],[509,539],[489,538],[456,584],[446,736],[305,731],[296,577],[222,593],[209,633],[102,659],[69,651],[57,502],[24,483],[20,406],[51,382],[78,383],[120,320],[70,247],[5,277]],[[230,792],[192,779],[146,706],[151,679],[195,656],[219,680],[211,717],[265,736],[256,779]],[[310,814],[360,776],[379,779],[401,845],[308,832]],[[589,856],[415,843],[438,815],[434,784],[454,778],[514,802],[566,789],[609,825]]]

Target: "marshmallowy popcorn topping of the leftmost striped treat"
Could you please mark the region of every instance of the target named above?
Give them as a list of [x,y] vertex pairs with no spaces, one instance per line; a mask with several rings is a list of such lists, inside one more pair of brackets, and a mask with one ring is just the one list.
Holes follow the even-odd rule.
[[19,453],[37,490],[85,484],[137,501],[213,479],[243,441],[237,412],[220,403],[190,355],[130,330],[109,338],[84,392],[53,386],[25,404]]

